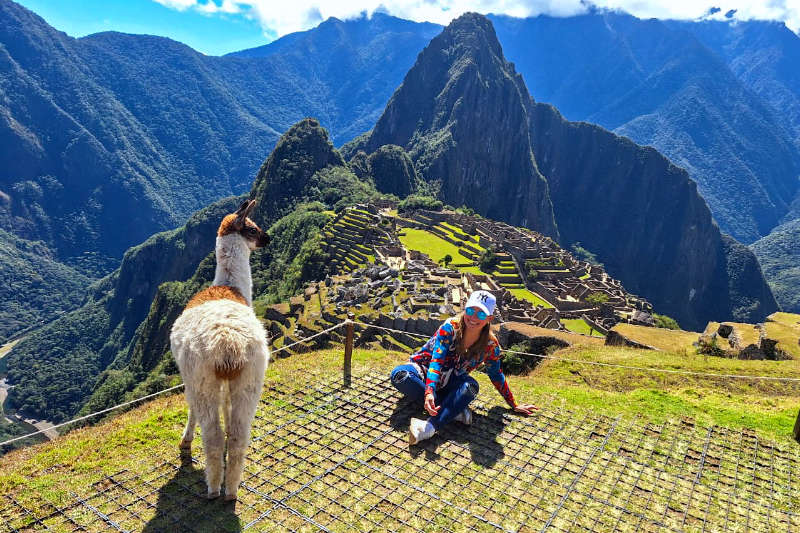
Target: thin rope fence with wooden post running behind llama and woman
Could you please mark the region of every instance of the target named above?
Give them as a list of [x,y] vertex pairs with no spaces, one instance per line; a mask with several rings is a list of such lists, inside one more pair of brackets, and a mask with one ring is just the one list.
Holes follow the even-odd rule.
[[[347,320],[345,320],[343,322],[340,322],[338,324],[334,324],[333,326],[331,326],[331,327],[329,327],[327,329],[319,331],[319,332],[317,332],[317,333],[315,333],[313,335],[310,335],[308,337],[304,337],[304,338],[302,338],[302,339],[300,339],[300,340],[298,340],[296,342],[293,342],[291,344],[287,344],[285,346],[281,346],[280,348],[274,349],[274,350],[271,351],[271,353],[275,354],[275,353],[281,352],[283,350],[288,350],[289,348],[292,348],[293,346],[296,346],[298,344],[306,343],[306,342],[308,342],[308,341],[310,341],[310,340],[312,340],[312,339],[314,339],[316,337],[320,337],[322,335],[330,333],[331,331],[334,331],[334,330],[344,326],[344,327],[347,328],[347,335],[346,335],[346,340],[345,340],[345,358],[344,358],[344,369],[343,369],[343,372],[344,372],[344,383],[345,383],[345,386],[349,386],[350,385],[350,373],[351,373],[351,357],[352,357],[352,350],[353,350],[353,336],[354,336],[353,335],[353,333],[354,333],[353,330],[354,330],[354,325],[359,325],[359,326],[362,326],[364,328],[374,328],[374,329],[379,329],[379,330],[384,330],[384,331],[389,331],[389,332],[394,332],[394,333],[401,333],[401,334],[409,335],[409,336],[412,336],[412,337],[418,337],[418,338],[424,338],[424,339],[430,338],[430,335],[425,335],[425,334],[421,334],[421,333],[411,333],[411,332],[403,331],[403,330],[400,330],[400,329],[394,329],[394,328],[389,328],[389,327],[385,327],[385,326],[379,326],[379,325],[376,325],[376,324],[369,324],[369,323],[366,323],[366,322],[360,322],[360,321],[357,321],[357,320],[353,320],[352,319],[352,316],[353,316],[352,314],[349,314],[348,316],[350,318],[348,318]],[[584,364],[584,365],[595,365],[595,366],[603,366],[603,367],[611,367],[611,368],[621,368],[621,369],[635,370],[635,371],[640,371],[640,372],[654,372],[654,373],[664,373],[664,374],[681,374],[681,375],[707,377],[707,378],[719,378],[719,379],[750,379],[750,380],[769,380],[769,381],[780,381],[780,382],[800,382],[800,378],[789,378],[789,377],[779,377],[779,376],[753,376],[753,375],[744,375],[744,374],[717,374],[717,373],[713,373],[713,372],[696,372],[696,371],[690,371],[690,370],[673,370],[673,369],[667,369],[667,368],[641,367],[641,366],[632,366],[632,365],[621,365],[621,364],[617,364],[617,363],[604,363],[604,362],[600,362],[600,361],[587,361],[587,360],[581,360],[581,359],[570,359],[570,358],[565,358],[565,357],[555,357],[555,356],[552,356],[552,355],[535,354],[535,353],[530,353],[530,352],[522,352],[522,351],[508,350],[508,349],[505,349],[503,351],[506,352],[506,353],[513,353],[513,354],[518,354],[518,355],[527,355],[527,356],[531,356],[531,357],[537,357],[537,358],[540,358],[540,359],[550,359],[550,360],[553,360],[553,361],[560,361],[560,362],[565,362],[565,363],[577,363],[577,364]],[[28,433],[27,435],[21,435],[21,436],[18,436],[18,437],[14,437],[14,438],[6,440],[4,442],[0,442],[0,447],[5,446],[7,444],[11,444],[11,443],[17,442],[17,441],[20,441],[20,440],[23,440],[23,439],[34,437],[34,436],[40,435],[42,433],[46,433],[46,432],[48,432],[50,430],[54,430],[54,429],[58,429],[60,427],[64,427],[64,426],[70,425],[70,424],[75,424],[75,423],[78,423],[78,422],[82,422],[84,420],[88,420],[90,418],[94,418],[96,416],[99,416],[99,415],[102,415],[102,414],[106,414],[106,413],[109,413],[111,411],[115,411],[117,409],[121,409],[123,407],[127,407],[129,405],[132,405],[132,404],[135,404],[135,403],[138,403],[138,402],[142,402],[144,400],[155,398],[156,396],[160,396],[161,394],[166,394],[168,392],[172,392],[172,391],[177,390],[177,389],[179,389],[181,387],[183,387],[183,383],[181,383],[179,385],[175,385],[174,387],[169,387],[167,389],[163,389],[163,390],[158,391],[158,392],[154,392],[152,394],[148,394],[146,396],[142,396],[141,398],[136,398],[136,399],[133,399],[133,400],[129,400],[127,402],[123,402],[121,404],[115,405],[113,407],[109,407],[107,409],[103,409],[101,411],[97,411],[95,413],[90,413],[88,415],[84,415],[84,416],[81,416],[79,418],[75,418],[73,420],[69,420],[67,422],[62,422],[60,424],[56,424],[56,425],[51,426],[51,427],[46,428],[46,429],[42,429],[42,430],[39,430],[39,431],[34,431],[32,433]],[[795,433],[797,434],[796,438],[797,438],[798,442],[800,442],[800,415],[798,415],[798,422],[797,422],[795,430],[796,430]]]

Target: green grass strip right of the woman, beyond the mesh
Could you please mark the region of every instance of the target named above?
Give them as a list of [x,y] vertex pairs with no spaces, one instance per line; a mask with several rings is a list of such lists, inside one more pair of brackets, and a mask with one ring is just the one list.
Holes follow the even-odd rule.
[[[554,354],[577,360],[713,374],[797,377],[800,361],[744,361],[678,352],[576,346]],[[511,387],[534,402],[654,423],[688,416],[701,425],[751,428],[789,442],[800,407],[800,383],[661,374],[545,360]],[[521,393],[517,393],[520,390]]]

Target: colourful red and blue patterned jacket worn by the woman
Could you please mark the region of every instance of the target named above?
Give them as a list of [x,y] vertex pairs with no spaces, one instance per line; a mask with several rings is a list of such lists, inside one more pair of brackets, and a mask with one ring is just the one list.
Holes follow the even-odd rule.
[[517,403],[514,395],[508,388],[503,371],[500,369],[500,343],[492,334],[486,345],[486,351],[476,360],[462,359],[456,354],[453,341],[455,332],[460,327],[458,320],[448,318],[439,326],[436,334],[425,345],[411,356],[411,362],[420,367],[425,377],[425,393],[441,389],[447,384],[452,372],[456,374],[469,373],[485,365],[486,373],[497,391],[513,409]]

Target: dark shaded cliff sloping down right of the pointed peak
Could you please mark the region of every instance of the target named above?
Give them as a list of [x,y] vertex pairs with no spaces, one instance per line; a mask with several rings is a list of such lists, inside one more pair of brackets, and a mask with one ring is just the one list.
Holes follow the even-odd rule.
[[686,329],[757,322],[777,310],[755,257],[724,237],[697,185],[653,148],[533,104],[531,139],[565,245]]

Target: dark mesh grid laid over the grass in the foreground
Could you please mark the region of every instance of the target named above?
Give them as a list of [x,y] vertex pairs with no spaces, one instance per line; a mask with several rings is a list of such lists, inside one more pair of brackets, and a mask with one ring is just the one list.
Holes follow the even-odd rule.
[[521,418],[477,404],[473,425],[409,448],[408,419],[421,414],[377,374],[350,389],[272,387],[235,505],[203,498],[201,446],[183,458],[176,447],[63,508],[34,513],[2,496],[0,530],[800,530],[800,453],[746,430],[555,411]]

